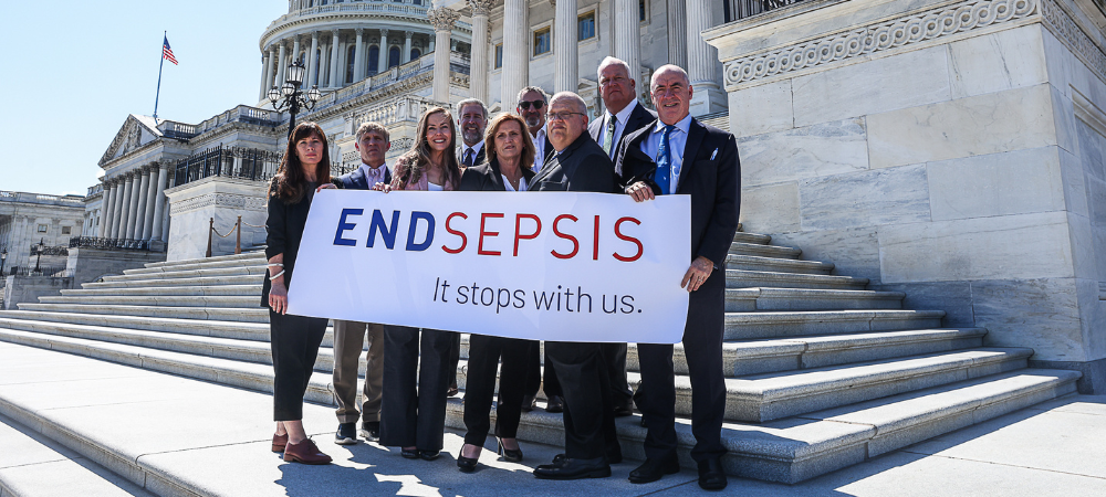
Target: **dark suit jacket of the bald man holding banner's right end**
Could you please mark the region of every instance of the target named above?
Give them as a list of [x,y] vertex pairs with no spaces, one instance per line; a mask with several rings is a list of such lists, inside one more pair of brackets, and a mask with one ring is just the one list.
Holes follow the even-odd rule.
[[[653,128],[650,123],[623,139],[616,156],[622,189],[645,181],[660,194],[654,181],[657,163],[641,151]],[[701,255],[724,267],[741,205],[741,165],[733,135],[691,119],[676,193],[691,195],[691,258]]]

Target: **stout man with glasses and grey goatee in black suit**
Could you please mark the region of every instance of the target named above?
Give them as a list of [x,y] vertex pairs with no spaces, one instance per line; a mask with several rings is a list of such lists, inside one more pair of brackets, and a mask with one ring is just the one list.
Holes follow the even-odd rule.
[[[585,131],[587,105],[572,92],[553,95],[546,127],[555,155],[534,177],[531,191],[592,191],[614,189],[611,158]],[[613,432],[614,408],[599,343],[545,342],[564,392],[564,456],[538,466],[534,476],[544,479],[601,478],[611,476],[608,452],[622,451],[605,440]]]

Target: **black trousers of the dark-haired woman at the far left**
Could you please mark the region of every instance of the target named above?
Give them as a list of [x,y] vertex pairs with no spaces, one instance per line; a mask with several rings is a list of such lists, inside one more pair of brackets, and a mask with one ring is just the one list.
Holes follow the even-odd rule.
[[269,345],[273,357],[273,420],[303,419],[303,394],[315,368],[326,319],[269,309]]

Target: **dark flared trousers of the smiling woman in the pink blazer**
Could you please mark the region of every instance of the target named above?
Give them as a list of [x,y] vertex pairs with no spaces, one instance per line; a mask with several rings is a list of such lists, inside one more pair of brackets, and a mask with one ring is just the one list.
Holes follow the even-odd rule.
[[380,445],[441,450],[449,348],[456,335],[385,325]]

